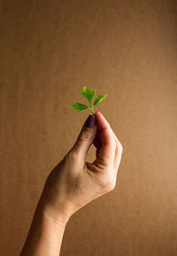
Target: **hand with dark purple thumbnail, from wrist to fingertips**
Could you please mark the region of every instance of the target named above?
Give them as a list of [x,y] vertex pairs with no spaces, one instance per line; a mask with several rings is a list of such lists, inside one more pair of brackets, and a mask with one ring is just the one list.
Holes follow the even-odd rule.
[[[96,147],[93,163],[85,160],[91,144]],[[122,146],[103,114],[89,116],[73,148],[50,172],[40,198],[42,210],[53,221],[67,222],[82,206],[113,190],[121,154]]]

